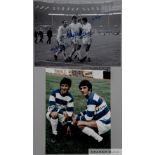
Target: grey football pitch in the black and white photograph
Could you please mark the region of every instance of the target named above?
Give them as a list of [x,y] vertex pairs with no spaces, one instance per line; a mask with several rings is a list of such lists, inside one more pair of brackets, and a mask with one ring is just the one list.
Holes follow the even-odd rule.
[[[101,35],[97,34],[93,36],[93,42],[90,47],[91,62],[80,63],[77,60],[67,63],[64,62],[62,54],[58,56],[58,60],[54,60],[54,51],[56,39],[52,37],[51,45],[46,44],[46,38],[44,43],[34,44],[34,63],[35,66],[76,66],[77,68],[98,67],[98,66],[120,66],[121,65],[121,35]],[[70,45],[66,48],[67,56],[72,51]],[[85,54],[84,49],[81,50],[81,54]]]

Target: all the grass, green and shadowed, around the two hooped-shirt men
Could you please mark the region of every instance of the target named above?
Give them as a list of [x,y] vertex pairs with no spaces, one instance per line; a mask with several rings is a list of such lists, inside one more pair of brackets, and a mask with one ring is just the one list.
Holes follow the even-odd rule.
[[[62,76],[55,76],[46,74],[46,109],[48,106],[48,99],[50,91],[59,88]],[[86,99],[82,97],[78,85],[83,77],[71,77],[72,87],[70,92],[74,97],[75,112],[83,111],[86,107]],[[104,97],[108,106],[110,107],[110,80],[96,80],[89,79],[93,85],[93,91],[98,95]],[[97,142],[87,135],[84,135],[80,130],[72,137],[66,137],[61,132],[61,125],[58,125],[59,141],[55,144],[50,142],[52,129],[51,125],[46,120],[46,154],[87,154],[89,148],[110,148],[110,132],[103,135],[104,144],[98,145]]]

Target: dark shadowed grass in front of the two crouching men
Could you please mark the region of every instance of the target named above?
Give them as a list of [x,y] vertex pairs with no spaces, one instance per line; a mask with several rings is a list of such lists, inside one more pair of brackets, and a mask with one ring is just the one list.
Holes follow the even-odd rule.
[[72,128],[73,135],[67,137],[63,127],[58,125],[58,141],[51,143],[51,126],[46,122],[46,154],[88,154],[89,148],[111,148],[111,132],[101,135],[104,139],[99,144],[92,137],[81,132],[77,127]]

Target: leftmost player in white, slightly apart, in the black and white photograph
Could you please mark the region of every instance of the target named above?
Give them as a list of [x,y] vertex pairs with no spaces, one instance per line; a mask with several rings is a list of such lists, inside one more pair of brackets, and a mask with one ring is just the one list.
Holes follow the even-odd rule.
[[63,20],[62,25],[59,26],[59,28],[58,28],[58,33],[57,33],[57,37],[56,37],[59,48],[54,54],[55,60],[57,60],[58,54],[62,53],[64,61],[66,61],[65,49],[66,49],[67,44],[65,43],[65,40],[67,39],[67,33],[68,33],[68,23],[66,20]]

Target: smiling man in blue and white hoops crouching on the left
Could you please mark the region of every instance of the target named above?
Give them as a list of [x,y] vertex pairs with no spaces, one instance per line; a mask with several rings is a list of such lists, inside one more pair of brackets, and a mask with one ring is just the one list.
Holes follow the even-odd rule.
[[71,80],[68,78],[63,78],[60,81],[60,88],[53,90],[49,97],[49,106],[46,117],[52,126],[52,143],[55,143],[57,140],[58,121],[62,125],[65,125],[67,121],[70,122],[72,120],[74,103],[73,97],[69,92],[70,87]]

